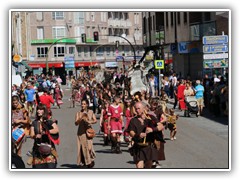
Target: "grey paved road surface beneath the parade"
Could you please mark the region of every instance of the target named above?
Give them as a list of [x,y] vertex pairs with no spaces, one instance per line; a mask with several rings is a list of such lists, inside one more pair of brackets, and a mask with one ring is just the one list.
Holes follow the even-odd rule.
[[[52,108],[54,118],[59,121],[61,144],[57,146],[59,153],[58,168],[77,168],[77,126],[74,125],[75,113],[80,109],[77,105],[70,108],[69,90],[64,90],[64,104],[61,109]],[[169,106],[172,106],[169,104]],[[166,160],[160,162],[162,169],[228,169],[229,167],[229,142],[228,123],[226,118],[183,117],[183,112],[177,122],[177,140],[169,140],[169,131],[165,130]],[[211,119],[210,119],[211,117]],[[99,120],[99,119],[98,119]],[[99,121],[94,129],[99,131]],[[33,141],[28,139],[23,145],[23,160],[31,149]],[[127,144],[122,144],[122,154],[112,154],[110,146],[103,146],[102,135],[94,138],[96,160],[94,168],[135,168],[132,157],[128,153]],[[27,168],[31,168],[27,166]]]

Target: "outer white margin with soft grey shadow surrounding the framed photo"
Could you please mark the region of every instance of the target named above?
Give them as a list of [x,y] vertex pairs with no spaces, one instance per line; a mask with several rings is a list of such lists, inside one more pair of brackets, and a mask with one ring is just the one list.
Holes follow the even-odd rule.
[[[193,0],[168,0],[168,1],[157,1],[157,0],[121,0],[121,1],[110,1],[110,0],[88,0],[77,1],[77,0],[41,0],[41,1],[33,1],[33,0],[3,0],[1,1],[1,64],[0,64],[0,83],[2,84],[0,88],[0,99],[2,103],[0,103],[0,114],[1,114],[1,140],[0,140],[0,171],[2,178],[7,179],[42,179],[46,177],[57,178],[57,179],[66,179],[66,178],[79,178],[79,177],[88,177],[88,178],[104,178],[111,179],[116,176],[116,172],[54,172],[54,173],[43,173],[43,172],[10,172],[9,171],[9,142],[8,142],[8,122],[10,117],[10,101],[9,101],[9,92],[10,92],[10,64],[9,64],[9,47],[10,47],[10,26],[9,26],[9,10],[10,9],[230,9],[231,10],[231,96],[234,97],[231,105],[231,142],[230,142],[230,150],[231,150],[231,171],[230,172],[117,172],[117,175],[114,179],[123,179],[123,178],[137,178],[137,179],[149,179],[149,178],[167,178],[167,179],[236,179],[240,175],[239,169],[239,140],[240,137],[239,130],[239,120],[235,118],[234,112],[237,109],[237,101],[239,100],[239,95],[235,93],[238,82],[237,72],[239,71],[239,60],[235,56],[239,56],[237,51],[234,51],[234,47],[239,44],[239,20],[240,11],[238,1],[236,0],[201,0],[197,1]],[[239,74],[239,73],[238,73]],[[238,131],[238,132],[237,132]],[[37,176],[35,173],[39,174]],[[71,176],[69,174],[71,173]],[[121,173],[121,174],[120,174]]]

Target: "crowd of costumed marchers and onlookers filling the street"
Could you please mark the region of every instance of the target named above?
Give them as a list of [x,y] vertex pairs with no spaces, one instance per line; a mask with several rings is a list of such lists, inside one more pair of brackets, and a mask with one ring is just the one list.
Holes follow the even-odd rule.
[[[75,115],[78,167],[92,168],[95,165],[94,135],[89,135],[89,130],[97,123],[96,114],[100,115],[99,128],[104,146],[110,146],[112,153],[121,154],[121,143],[128,143],[136,168],[156,168],[160,161],[165,160],[166,130],[169,129],[171,141],[177,139],[179,116],[174,112],[177,103],[179,109],[185,110],[185,97],[195,96],[198,115],[203,115],[204,107],[215,115],[219,115],[219,108],[225,115],[228,113],[228,86],[223,78],[211,80],[206,76],[201,81],[190,81],[179,79],[173,73],[163,76],[159,93],[156,77],[149,74],[146,90],[130,94],[131,78],[127,72],[104,73],[102,82],[97,81],[93,71],[81,71],[78,77],[67,77],[72,107],[76,107],[76,103],[81,105]],[[63,96],[61,78],[57,76],[30,76],[20,87],[13,85],[12,128],[23,128],[26,136],[34,139],[31,152],[33,168],[57,166],[55,145],[59,143],[59,129],[57,121],[52,119],[51,105],[61,108]],[[167,103],[171,99],[174,105],[169,108]],[[19,156],[23,142],[14,141],[14,149]]]

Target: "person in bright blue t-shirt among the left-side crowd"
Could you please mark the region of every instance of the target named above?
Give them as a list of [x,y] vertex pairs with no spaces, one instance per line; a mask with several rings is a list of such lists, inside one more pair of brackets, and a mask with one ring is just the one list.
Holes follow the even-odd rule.
[[31,117],[34,111],[35,89],[30,83],[28,83],[27,89],[25,90],[24,94],[26,95],[26,100],[27,100],[27,110]]

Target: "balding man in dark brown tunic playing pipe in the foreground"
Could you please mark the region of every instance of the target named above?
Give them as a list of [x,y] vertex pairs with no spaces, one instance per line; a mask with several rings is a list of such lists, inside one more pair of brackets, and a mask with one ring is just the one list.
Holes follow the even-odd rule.
[[[161,131],[163,125],[156,123],[152,126],[151,117],[146,114],[145,106],[142,102],[135,104],[137,116],[131,119],[128,131],[134,141],[129,149],[133,156],[136,168],[152,168],[152,162],[158,160],[158,150],[154,145],[154,133]],[[156,118],[155,118],[156,120]]]

